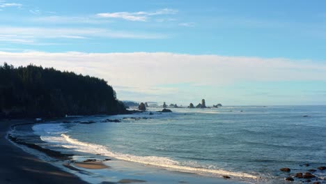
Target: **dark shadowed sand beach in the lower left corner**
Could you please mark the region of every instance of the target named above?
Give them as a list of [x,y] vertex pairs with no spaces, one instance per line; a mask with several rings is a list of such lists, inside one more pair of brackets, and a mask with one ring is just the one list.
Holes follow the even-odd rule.
[[0,183],[86,183],[77,176],[22,151],[6,139],[10,125],[26,120],[0,121]]

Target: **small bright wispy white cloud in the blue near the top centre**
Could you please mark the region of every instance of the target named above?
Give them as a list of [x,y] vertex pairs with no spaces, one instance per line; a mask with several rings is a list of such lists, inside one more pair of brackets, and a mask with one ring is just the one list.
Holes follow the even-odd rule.
[[153,12],[145,12],[145,11],[139,11],[139,12],[134,12],[134,13],[116,12],[116,13],[98,13],[97,15],[99,17],[105,17],[105,18],[120,18],[123,20],[145,22],[149,19],[150,16],[173,15],[176,13],[178,13],[178,10],[164,8],[164,9],[156,10]]

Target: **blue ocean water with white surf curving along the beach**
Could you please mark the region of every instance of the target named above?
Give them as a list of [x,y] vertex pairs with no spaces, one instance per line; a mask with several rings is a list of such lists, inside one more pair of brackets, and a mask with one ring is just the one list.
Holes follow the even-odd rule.
[[[326,165],[326,106],[160,110],[68,117],[20,126],[11,133],[72,153],[74,160],[111,158],[105,162],[109,169],[83,173],[63,168],[90,183],[121,178],[148,183],[286,183],[288,176]],[[62,167],[61,160],[42,159]],[[280,171],[282,167],[290,173]],[[317,178],[311,181],[326,183],[326,171],[316,169],[313,174]]]

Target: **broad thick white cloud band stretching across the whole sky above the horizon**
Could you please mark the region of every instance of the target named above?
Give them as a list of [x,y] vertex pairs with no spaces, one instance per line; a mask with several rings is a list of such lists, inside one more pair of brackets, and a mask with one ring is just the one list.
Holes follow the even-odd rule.
[[288,59],[262,59],[172,53],[11,53],[0,63],[34,63],[94,75],[110,84],[149,89],[160,84],[222,85],[256,81],[326,81],[326,64]]

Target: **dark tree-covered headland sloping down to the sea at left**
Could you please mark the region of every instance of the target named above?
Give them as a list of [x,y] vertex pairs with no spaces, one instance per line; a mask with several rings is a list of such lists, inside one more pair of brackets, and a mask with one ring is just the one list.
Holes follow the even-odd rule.
[[104,79],[42,66],[0,66],[0,117],[124,113]]

